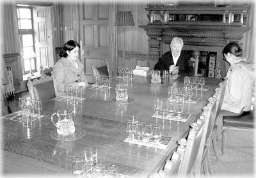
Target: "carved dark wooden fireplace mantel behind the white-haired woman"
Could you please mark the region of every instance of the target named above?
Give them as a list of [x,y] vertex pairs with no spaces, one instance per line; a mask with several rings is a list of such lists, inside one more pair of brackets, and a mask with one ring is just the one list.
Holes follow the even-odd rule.
[[[247,26],[248,6],[163,6],[148,5],[145,8],[148,24],[140,25],[148,37],[148,56],[157,61],[172,38],[184,41],[185,50],[216,52],[216,64],[223,66],[222,48],[230,41],[239,43],[250,27]],[[189,17],[196,20],[189,20]],[[206,19],[206,20],[205,20]],[[216,20],[217,19],[217,20]],[[240,45],[243,45],[239,43]]]

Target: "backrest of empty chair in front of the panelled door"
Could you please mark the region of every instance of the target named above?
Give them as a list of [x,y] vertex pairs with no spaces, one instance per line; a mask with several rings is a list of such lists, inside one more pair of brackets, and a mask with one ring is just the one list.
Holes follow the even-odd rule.
[[99,77],[100,75],[109,76],[108,59],[105,59],[105,61],[101,63],[92,63],[92,71],[94,80],[96,77]]

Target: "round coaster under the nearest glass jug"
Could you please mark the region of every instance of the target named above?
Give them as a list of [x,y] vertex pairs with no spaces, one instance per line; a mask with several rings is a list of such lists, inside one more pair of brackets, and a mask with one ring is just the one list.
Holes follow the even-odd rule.
[[51,132],[51,137],[55,140],[72,141],[84,137],[86,131],[81,128],[76,128],[76,131],[72,135],[63,136],[57,133],[57,130]]

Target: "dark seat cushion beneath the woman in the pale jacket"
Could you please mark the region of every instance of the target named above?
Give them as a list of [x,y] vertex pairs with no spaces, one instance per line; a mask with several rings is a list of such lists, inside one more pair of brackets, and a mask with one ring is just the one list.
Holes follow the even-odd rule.
[[223,126],[254,128],[253,111],[243,112],[236,116],[223,116]]

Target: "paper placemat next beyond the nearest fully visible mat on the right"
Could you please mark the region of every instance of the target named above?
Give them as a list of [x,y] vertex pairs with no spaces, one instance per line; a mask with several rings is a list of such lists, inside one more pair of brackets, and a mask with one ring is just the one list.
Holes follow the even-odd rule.
[[167,119],[167,120],[172,120],[172,121],[186,122],[186,121],[188,121],[188,118],[190,117],[190,115],[191,114],[187,114],[187,113],[180,113],[178,115],[176,112],[171,112],[171,113],[168,112],[167,114],[164,114],[164,116],[163,116],[163,112],[159,112],[158,116],[155,113],[154,115],[152,115],[152,117],[155,117],[157,119]]

